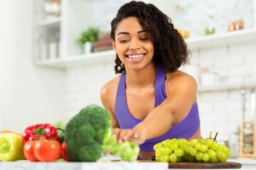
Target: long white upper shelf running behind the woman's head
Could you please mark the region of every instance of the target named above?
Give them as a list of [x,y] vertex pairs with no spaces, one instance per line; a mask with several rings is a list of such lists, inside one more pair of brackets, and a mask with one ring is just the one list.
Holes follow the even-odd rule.
[[[188,50],[256,42],[256,28],[235,30],[233,32],[217,35],[204,35],[198,38],[188,38],[185,41],[188,45]],[[36,61],[36,65],[65,69],[68,67],[78,67],[81,64],[92,64],[95,62],[114,60],[114,56],[113,50],[107,50],[104,52],[95,52],[90,55],[78,55],[63,58],[60,57],[55,60]]]

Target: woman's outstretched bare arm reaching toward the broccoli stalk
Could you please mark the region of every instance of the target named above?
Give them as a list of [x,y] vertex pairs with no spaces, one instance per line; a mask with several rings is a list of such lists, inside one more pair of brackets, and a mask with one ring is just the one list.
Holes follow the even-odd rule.
[[132,130],[119,132],[119,142],[133,140],[142,144],[145,140],[164,135],[173,125],[186,118],[196,102],[196,80],[188,74],[178,72],[166,80],[166,87],[166,100]]

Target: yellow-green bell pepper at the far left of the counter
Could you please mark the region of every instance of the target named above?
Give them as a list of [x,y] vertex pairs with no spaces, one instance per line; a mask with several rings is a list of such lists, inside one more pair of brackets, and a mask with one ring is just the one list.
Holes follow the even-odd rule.
[[0,134],[0,160],[11,162],[21,159],[25,159],[22,137],[12,132]]

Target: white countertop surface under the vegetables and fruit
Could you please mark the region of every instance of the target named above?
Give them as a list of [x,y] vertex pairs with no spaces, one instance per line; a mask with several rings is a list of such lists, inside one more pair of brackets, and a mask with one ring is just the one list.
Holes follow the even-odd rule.
[[[166,162],[107,162],[120,157],[105,156],[98,162],[0,162],[0,170],[167,170]],[[228,159],[242,164],[242,169],[256,169],[256,160]],[[192,169],[191,169],[192,170]],[[231,169],[230,169],[231,170]]]

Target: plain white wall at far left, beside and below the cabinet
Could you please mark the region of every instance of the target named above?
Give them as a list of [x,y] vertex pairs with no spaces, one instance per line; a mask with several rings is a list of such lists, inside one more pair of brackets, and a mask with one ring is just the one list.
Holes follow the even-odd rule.
[[33,0],[0,1],[0,130],[62,120],[64,72],[33,64]]

